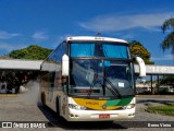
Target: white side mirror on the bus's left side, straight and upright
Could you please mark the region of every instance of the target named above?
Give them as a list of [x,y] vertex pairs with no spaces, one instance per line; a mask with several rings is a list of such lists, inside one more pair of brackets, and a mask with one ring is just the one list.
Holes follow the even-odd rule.
[[69,68],[70,59],[67,55],[63,55],[62,57],[62,76],[69,76]]

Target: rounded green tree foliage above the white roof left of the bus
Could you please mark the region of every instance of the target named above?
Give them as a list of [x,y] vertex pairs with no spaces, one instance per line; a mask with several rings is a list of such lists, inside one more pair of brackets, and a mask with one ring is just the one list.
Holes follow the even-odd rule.
[[51,51],[51,49],[42,48],[36,45],[30,45],[27,48],[11,51],[9,53],[9,57],[13,59],[44,60],[50,55]]

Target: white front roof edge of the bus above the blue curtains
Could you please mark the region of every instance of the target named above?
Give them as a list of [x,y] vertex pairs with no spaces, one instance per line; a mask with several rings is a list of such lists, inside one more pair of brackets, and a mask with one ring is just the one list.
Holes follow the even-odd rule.
[[119,41],[119,43],[125,43],[128,44],[126,40],[117,39],[117,38],[111,38],[111,37],[98,37],[98,36],[74,36],[74,37],[66,37],[66,41]]

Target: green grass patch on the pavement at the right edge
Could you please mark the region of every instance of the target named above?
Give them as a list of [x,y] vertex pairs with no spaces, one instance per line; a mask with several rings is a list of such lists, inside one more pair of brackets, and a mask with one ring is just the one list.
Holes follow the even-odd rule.
[[174,116],[174,105],[152,106],[146,109],[148,112]]

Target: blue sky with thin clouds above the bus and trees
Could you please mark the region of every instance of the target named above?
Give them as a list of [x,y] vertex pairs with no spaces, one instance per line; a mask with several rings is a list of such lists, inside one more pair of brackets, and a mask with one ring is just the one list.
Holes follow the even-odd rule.
[[0,0],[0,55],[38,45],[54,49],[66,36],[140,41],[156,64],[174,66],[163,52],[161,25],[174,17],[174,0]]

